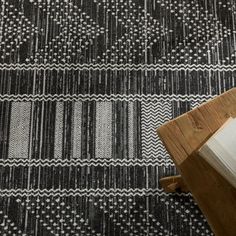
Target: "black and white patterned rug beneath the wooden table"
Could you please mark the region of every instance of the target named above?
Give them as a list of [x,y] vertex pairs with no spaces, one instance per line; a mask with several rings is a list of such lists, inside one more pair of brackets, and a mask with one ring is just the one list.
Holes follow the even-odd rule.
[[0,235],[213,235],[156,128],[236,82],[234,0],[0,0]]

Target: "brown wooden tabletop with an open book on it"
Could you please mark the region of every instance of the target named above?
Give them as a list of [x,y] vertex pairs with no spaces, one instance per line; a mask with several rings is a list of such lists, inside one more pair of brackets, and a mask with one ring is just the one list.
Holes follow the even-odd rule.
[[196,151],[229,117],[236,117],[236,88],[157,129],[186,186],[217,236],[236,235],[236,189]]

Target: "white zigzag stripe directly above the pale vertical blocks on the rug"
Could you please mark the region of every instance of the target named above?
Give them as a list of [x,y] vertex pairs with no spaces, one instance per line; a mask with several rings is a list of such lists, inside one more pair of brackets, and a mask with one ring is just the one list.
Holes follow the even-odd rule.
[[96,95],[96,94],[4,94],[0,95],[0,101],[189,101],[194,100],[206,101],[214,98],[216,95],[205,94],[111,94],[111,95]]

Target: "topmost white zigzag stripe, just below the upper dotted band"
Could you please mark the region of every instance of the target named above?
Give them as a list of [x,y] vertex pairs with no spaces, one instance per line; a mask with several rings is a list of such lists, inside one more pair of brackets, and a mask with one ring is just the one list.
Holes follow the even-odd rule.
[[130,71],[235,71],[236,65],[222,64],[0,64],[0,70],[130,70]]

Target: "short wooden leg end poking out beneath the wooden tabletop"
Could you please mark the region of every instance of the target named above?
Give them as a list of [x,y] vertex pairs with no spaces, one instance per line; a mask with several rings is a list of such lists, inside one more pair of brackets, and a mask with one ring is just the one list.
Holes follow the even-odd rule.
[[160,179],[160,184],[165,192],[189,192],[181,175],[168,176]]

